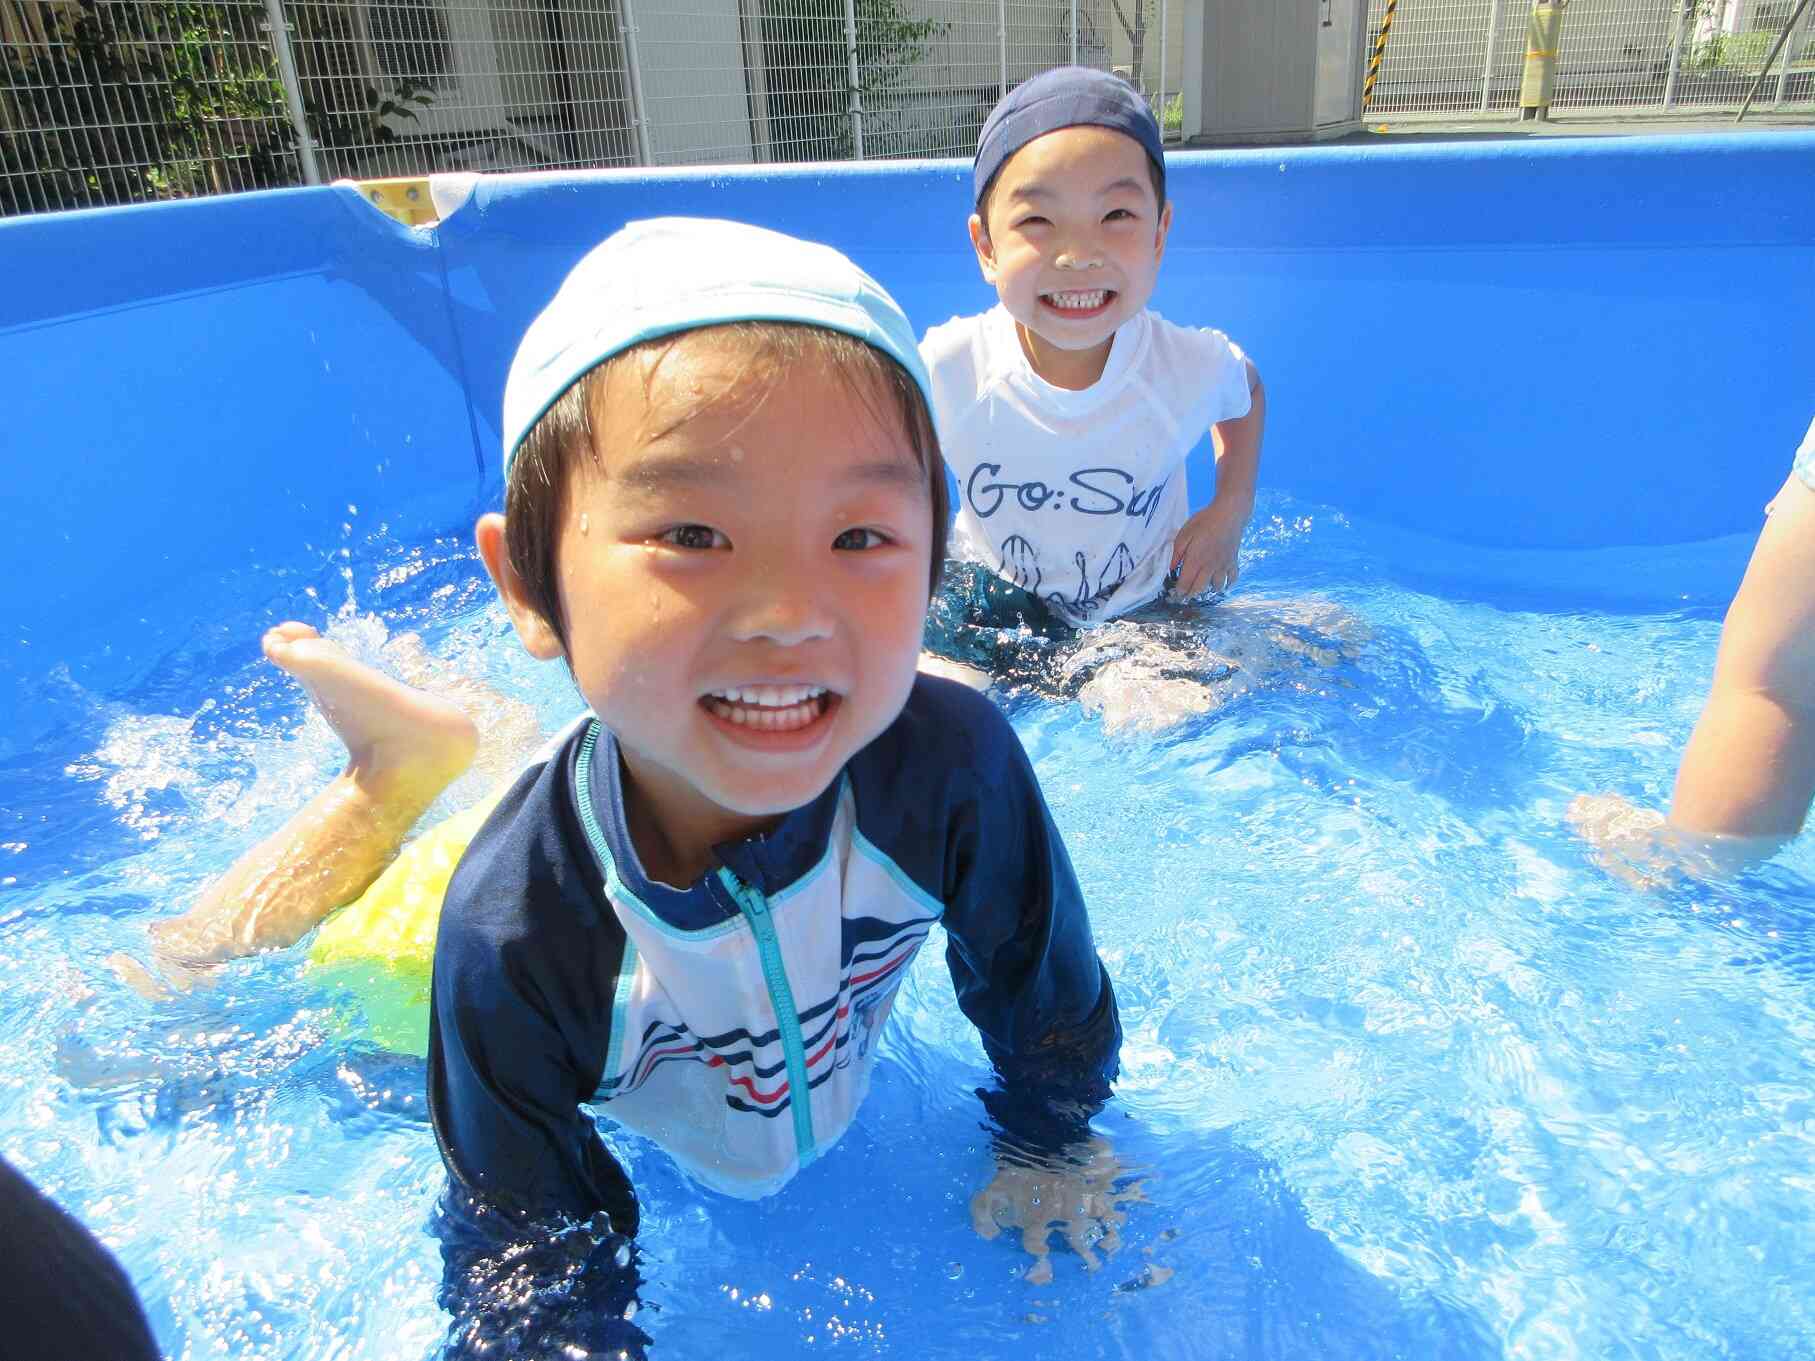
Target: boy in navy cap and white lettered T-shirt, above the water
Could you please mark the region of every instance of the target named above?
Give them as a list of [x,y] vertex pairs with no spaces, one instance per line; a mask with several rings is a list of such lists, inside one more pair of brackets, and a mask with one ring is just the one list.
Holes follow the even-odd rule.
[[[1172,205],[1133,87],[1035,76],[989,114],[973,174],[971,243],[1002,301],[920,343],[960,494],[927,650],[998,668],[1015,637],[1234,584],[1265,401],[1223,332],[1147,310]],[[1205,428],[1216,495],[1191,515]]]

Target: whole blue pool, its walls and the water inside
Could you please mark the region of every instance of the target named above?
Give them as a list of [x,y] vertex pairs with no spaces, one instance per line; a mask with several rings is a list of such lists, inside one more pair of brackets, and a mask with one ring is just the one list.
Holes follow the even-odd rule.
[[[748,218],[927,327],[993,299],[967,189],[595,172],[481,180],[434,229],[350,187],[0,223],[0,1152],[169,1354],[445,1328],[423,1069],[359,998],[296,951],[165,1004],[100,964],[334,769],[260,630],[416,630],[559,722],[466,546],[555,281],[633,218]],[[975,1238],[986,1063],[926,951],[864,1116],[784,1194],[613,1136],[657,1354],[1806,1356],[1815,849],[1641,891],[1563,808],[1668,795],[1815,414],[1815,132],[1182,152],[1171,191],[1154,307],[1265,374],[1236,602],[1287,628],[1225,639],[1270,671],[1158,735],[1007,700],[1118,980],[1098,1125],[1147,1203],[1047,1287]]]

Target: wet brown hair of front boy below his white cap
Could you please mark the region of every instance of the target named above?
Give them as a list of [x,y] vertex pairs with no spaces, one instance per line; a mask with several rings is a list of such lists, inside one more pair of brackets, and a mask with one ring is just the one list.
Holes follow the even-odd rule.
[[[926,474],[933,508],[933,563],[927,579],[931,599],[946,563],[951,495],[946,488],[946,459],[920,385],[895,359],[855,336],[795,321],[735,321],[662,336],[613,354],[561,394],[517,446],[505,483],[505,543],[528,602],[555,632],[563,651],[568,633],[555,553],[574,479],[584,463],[601,466],[597,412],[604,385],[617,365],[648,356],[661,361],[677,343],[702,330],[726,332],[742,341],[751,359],[768,368],[771,385],[800,368],[837,374],[878,425],[895,425],[908,434],[920,472]],[[722,396],[728,394],[706,401]]]

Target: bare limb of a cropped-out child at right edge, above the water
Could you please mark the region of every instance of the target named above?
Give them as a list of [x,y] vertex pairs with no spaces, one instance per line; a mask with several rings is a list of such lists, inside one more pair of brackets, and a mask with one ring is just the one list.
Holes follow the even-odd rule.
[[1777,495],[1721,630],[1670,824],[1697,837],[1793,837],[1815,798],[1815,490]]

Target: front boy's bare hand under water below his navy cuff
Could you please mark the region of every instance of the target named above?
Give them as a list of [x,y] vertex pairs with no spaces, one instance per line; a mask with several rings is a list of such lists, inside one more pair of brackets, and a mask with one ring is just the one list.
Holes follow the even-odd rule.
[[1122,1247],[1127,1212],[1118,1207],[1143,1199],[1140,1183],[1116,1187],[1127,1174],[1102,1138],[1091,1138],[1045,1165],[998,1161],[995,1178],[971,1198],[971,1227],[984,1238],[1020,1229],[1022,1247],[1033,1258],[1025,1272],[1033,1285],[1053,1279],[1047,1238],[1055,1229],[1084,1258],[1084,1268],[1096,1270],[1102,1261],[1093,1247],[1100,1247],[1104,1256]]

